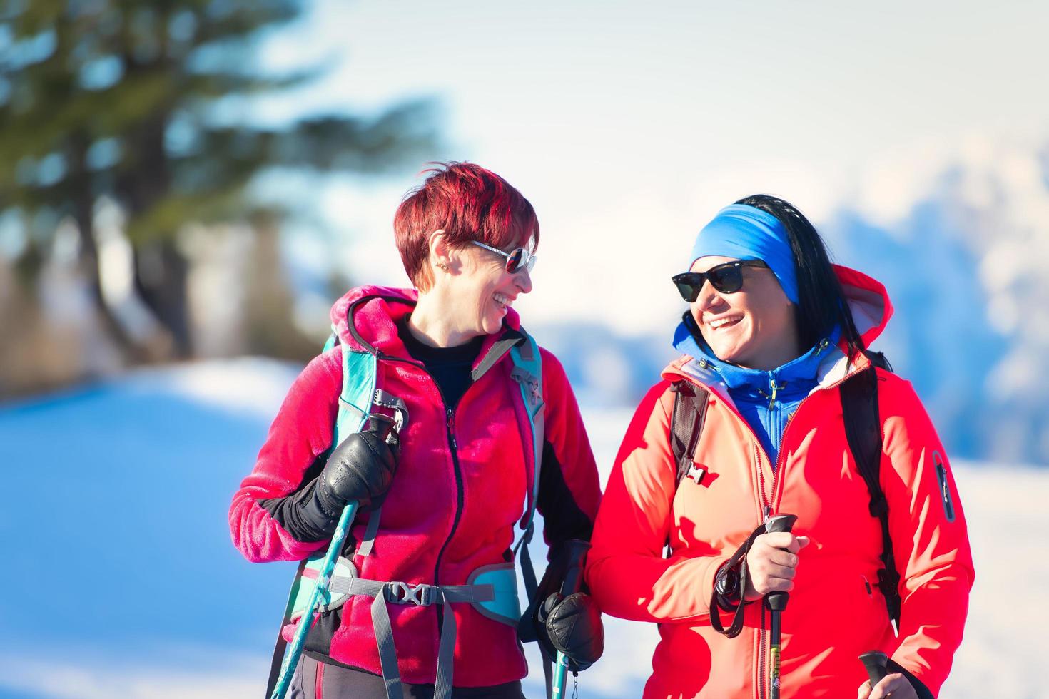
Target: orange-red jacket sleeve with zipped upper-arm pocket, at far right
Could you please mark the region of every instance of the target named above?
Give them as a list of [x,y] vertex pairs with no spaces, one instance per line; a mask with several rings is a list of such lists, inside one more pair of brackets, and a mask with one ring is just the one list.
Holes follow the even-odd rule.
[[962,642],[972,554],[946,453],[908,381],[882,374],[881,486],[900,572],[900,645],[893,659],[934,695]]

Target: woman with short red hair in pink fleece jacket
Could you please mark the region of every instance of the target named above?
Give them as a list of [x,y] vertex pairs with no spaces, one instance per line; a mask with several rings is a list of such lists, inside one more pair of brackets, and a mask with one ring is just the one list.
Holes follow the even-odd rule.
[[[291,697],[520,699],[519,635],[573,670],[602,639],[590,598],[558,592],[572,541],[590,539],[597,468],[564,370],[512,308],[532,290],[539,224],[505,179],[451,162],[405,197],[393,227],[414,288],[363,286],[335,304],[330,347],[292,386],[233,498],[234,544],[252,562],[304,561],[358,503]],[[522,618],[513,561],[536,509],[550,565]],[[293,593],[317,576],[304,562]]]

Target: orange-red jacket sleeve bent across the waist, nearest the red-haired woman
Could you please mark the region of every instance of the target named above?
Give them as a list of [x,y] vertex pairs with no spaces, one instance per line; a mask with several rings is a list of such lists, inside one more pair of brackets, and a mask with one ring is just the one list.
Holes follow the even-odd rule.
[[663,558],[673,523],[676,466],[669,443],[673,394],[656,385],[619,447],[594,527],[586,582],[601,610],[638,621],[709,619],[721,556]]

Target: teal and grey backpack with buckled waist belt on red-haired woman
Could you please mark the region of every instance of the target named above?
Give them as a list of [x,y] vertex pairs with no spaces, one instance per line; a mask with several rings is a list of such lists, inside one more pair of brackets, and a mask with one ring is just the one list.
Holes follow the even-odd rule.
[[[357,338],[358,343],[365,348],[369,347],[369,345],[358,334],[354,327],[352,313],[358,305],[373,298],[365,297],[359,299],[347,310],[347,316],[350,321],[350,332]],[[333,325],[331,335],[324,345],[323,351],[328,351],[336,346],[342,348],[343,380],[342,391],[339,394],[339,411],[336,422],[333,425],[334,433],[328,454],[348,435],[360,432],[365,428],[368,415],[371,413],[373,407],[390,408],[395,402],[400,402],[401,407],[404,406],[400,398],[388,394],[378,386],[380,377],[379,363],[400,361],[399,358],[388,357],[379,351],[354,349],[344,343],[340,343],[336,328]],[[522,435],[522,441],[526,445],[529,443],[532,444],[531,453],[528,453],[528,447],[526,446],[526,459],[531,460],[533,463],[533,478],[526,501],[524,514],[518,523],[522,533],[511,549],[512,560],[510,562],[483,566],[471,573],[466,585],[441,586],[442,591],[436,596],[443,597],[447,602],[470,604],[484,616],[516,627],[521,615],[520,602],[517,596],[515,567],[518,550],[520,551],[521,559],[521,576],[524,580],[526,594],[530,605],[534,602],[536,589],[538,588],[535,568],[532,564],[528,545],[532,540],[535,529],[534,518],[539,498],[539,476],[543,449],[544,403],[542,399],[542,359],[539,354],[539,347],[535,340],[523,329],[510,330],[504,333],[504,336],[481,358],[473,371],[473,378],[478,378],[508,352],[513,362],[510,374],[520,389],[521,399],[529,417],[529,434]],[[324,455],[322,458],[326,459],[326,456]],[[382,507],[376,508],[370,512],[364,536],[358,542],[356,554],[370,554],[376,536],[379,532],[381,514]],[[301,618],[305,613],[313,591],[317,586],[317,580],[325,553],[326,551],[321,549],[299,564],[292,589],[288,592],[281,630],[287,624]],[[322,596],[321,604],[316,611],[325,612],[338,609],[355,594],[370,594],[371,596],[383,594],[381,589],[370,589],[376,587],[376,582],[360,580],[357,572],[351,559],[340,555],[336,563],[335,571],[331,573],[329,587]],[[437,586],[410,586],[404,583],[394,583],[394,585],[403,588],[404,599],[410,600],[412,604],[433,604],[430,599],[432,595],[425,588]],[[484,594],[473,594],[476,590],[483,590]],[[455,598],[456,595],[461,598]],[[426,597],[426,599],[421,597]],[[451,615],[448,614],[448,616]],[[451,678],[451,657],[449,651],[454,649],[454,630],[452,630],[451,634],[452,637],[449,642],[449,640],[444,638],[444,629],[442,630],[442,653],[438,655],[437,660],[438,676],[447,673],[449,683]],[[383,636],[389,640],[387,647],[389,652],[391,654],[394,653],[392,649],[392,635],[390,633],[380,633],[379,629],[377,629],[377,635],[380,636],[381,658],[383,656]],[[450,647],[447,651],[445,650],[446,646]],[[286,641],[284,641],[282,633],[278,633],[266,696],[272,695],[273,689],[276,686],[285,648]],[[392,670],[395,671],[395,658],[393,662]],[[387,660],[384,659],[384,668],[386,664]]]

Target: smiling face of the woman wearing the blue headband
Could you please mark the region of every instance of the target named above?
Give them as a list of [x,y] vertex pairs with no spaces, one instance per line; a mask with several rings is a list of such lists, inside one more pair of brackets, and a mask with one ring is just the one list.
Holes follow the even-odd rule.
[[[706,271],[734,258],[707,256],[690,271]],[[775,369],[800,354],[794,305],[771,269],[743,267],[743,288],[722,293],[706,282],[689,304],[714,355],[748,369]]]

